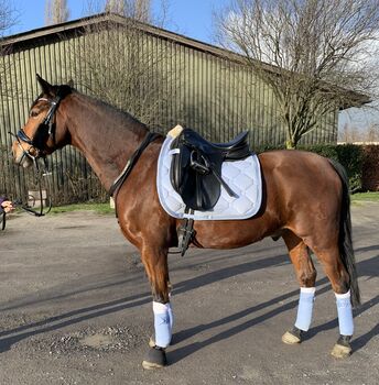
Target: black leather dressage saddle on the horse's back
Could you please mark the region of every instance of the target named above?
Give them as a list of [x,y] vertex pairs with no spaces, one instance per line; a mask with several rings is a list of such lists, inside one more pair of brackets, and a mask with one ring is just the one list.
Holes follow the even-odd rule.
[[173,188],[182,197],[186,208],[208,211],[220,196],[220,187],[234,197],[221,176],[223,162],[239,161],[251,155],[248,132],[240,133],[228,143],[210,143],[191,129],[183,129],[173,141],[170,178]]

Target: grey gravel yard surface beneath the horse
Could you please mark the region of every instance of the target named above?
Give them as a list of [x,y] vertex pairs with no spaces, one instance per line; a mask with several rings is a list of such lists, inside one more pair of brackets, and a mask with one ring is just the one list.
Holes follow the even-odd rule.
[[281,342],[299,288],[283,242],[267,239],[170,256],[170,365],[149,372],[150,289],[117,220],[13,215],[0,234],[0,384],[379,384],[378,220],[378,204],[353,206],[362,305],[349,359],[329,354],[336,308],[317,263],[313,328]]

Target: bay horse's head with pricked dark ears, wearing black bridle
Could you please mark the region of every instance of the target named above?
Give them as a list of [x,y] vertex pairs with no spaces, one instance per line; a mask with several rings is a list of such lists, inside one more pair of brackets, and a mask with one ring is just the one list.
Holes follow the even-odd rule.
[[73,92],[72,85],[52,86],[36,75],[42,92],[30,108],[25,125],[12,144],[14,162],[28,167],[69,142],[64,113],[64,99]]

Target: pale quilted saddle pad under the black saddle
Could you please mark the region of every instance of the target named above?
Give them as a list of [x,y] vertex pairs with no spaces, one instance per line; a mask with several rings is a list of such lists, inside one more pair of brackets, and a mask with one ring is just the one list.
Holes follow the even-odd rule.
[[185,213],[185,204],[173,189],[170,179],[170,167],[173,154],[178,150],[170,150],[174,138],[166,136],[158,161],[156,188],[164,210],[174,218],[193,218],[196,220],[246,219],[255,216],[261,205],[262,182],[260,164],[257,155],[243,161],[224,162],[221,175],[226,184],[237,194],[230,197],[221,186],[221,195],[210,211]]

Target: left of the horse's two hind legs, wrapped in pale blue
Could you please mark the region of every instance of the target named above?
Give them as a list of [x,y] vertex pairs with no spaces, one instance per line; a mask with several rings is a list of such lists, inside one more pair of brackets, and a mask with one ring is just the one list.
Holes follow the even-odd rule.
[[302,341],[303,333],[310,329],[312,322],[317,273],[310,256],[310,250],[303,240],[290,230],[285,231],[282,237],[300,284],[296,320],[293,328],[282,336],[282,341],[288,344],[296,344]]

